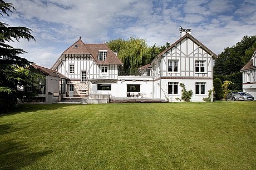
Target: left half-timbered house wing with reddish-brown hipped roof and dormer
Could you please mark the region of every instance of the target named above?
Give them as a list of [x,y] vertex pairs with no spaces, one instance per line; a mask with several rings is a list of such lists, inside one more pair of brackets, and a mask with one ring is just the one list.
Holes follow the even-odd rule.
[[67,96],[82,96],[92,89],[97,93],[94,83],[99,79],[116,82],[122,64],[105,43],[85,44],[80,38],[61,54],[52,69],[70,79]]

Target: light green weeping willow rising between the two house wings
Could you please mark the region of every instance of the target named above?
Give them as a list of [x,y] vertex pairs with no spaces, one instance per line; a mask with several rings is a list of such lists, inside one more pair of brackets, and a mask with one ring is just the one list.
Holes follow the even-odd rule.
[[147,64],[147,58],[150,56],[145,39],[131,37],[126,41],[119,38],[107,42],[107,46],[118,52],[118,57],[124,63],[124,70],[129,73],[134,73],[135,69]]

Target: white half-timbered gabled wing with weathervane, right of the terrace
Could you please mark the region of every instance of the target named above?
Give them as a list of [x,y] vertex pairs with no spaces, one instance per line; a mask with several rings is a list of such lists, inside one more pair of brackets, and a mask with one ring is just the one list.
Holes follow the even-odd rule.
[[[185,31],[185,33],[183,32]],[[213,89],[213,58],[215,53],[191,36],[190,30],[151,62],[154,76],[154,97],[176,101],[181,96],[180,83],[192,89],[192,101],[203,101]]]

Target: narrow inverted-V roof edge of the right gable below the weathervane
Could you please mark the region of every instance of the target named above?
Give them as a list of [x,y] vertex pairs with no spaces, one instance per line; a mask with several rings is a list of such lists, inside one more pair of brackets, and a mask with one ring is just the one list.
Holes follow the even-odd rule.
[[213,57],[218,57],[214,52],[212,52],[209,48],[207,48],[206,46],[204,46],[204,44],[202,44],[200,41],[198,41],[195,37],[191,36],[190,33],[186,33],[183,37],[181,37],[180,39],[178,39],[178,41],[176,41],[175,43],[171,44],[170,47],[166,48],[163,52],[161,52],[160,54],[157,55],[156,58],[158,58],[159,56],[161,56],[162,54],[164,54],[165,52],[169,51],[171,48],[173,48],[174,46],[176,46],[176,44],[178,44],[179,42],[183,41],[183,39],[185,39],[186,37],[190,38],[191,41],[194,41],[195,43],[199,44],[201,46],[201,48],[203,48],[206,52],[210,53],[211,55],[213,55]]

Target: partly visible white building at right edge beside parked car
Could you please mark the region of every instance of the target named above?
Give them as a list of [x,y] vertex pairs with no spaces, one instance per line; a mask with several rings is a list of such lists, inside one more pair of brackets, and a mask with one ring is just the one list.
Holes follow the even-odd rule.
[[256,99],[256,51],[252,59],[240,70],[243,73],[243,92],[252,94]]

